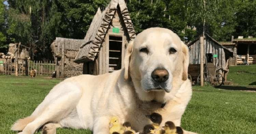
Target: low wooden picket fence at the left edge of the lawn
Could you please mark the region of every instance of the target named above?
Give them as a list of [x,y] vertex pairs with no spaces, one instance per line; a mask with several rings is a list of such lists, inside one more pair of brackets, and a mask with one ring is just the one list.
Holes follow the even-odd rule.
[[[14,59],[4,59],[2,63],[2,69],[0,73],[5,75],[15,75],[15,60]],[[0,65],[1,66],[1,65]],[[21,60],[18,62],[18,75],[29,75],[29,72],[36,70],[36,75],[52,75],[55,71],[56,63],[54,61],[31,61],[31,60]]]

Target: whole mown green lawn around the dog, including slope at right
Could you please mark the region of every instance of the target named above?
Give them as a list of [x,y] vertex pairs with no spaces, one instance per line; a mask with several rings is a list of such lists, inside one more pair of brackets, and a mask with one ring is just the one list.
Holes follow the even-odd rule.
[[[231,67],[232,81],[239,85],[249,85],[255,78],[253,66],[246,73],[235,72]],[[256,67],[256,66],[254,66]],[[251,74],[252,73],[252,74]],[[238,75],[238,76],[236,76]],[[256,79],[254,79],[255,81]],[[44,99],[50,89],[61,80],[43,77],[0,75],[0,133],[15,134],[10,126],[19,118],[30,115]],[[256,92],[223,90],[213,87],[193,87],[193,95],[185,114],[182,127],[200,134],[256,134]],[[39,133],[37,133],[39,134]],[[57,134],[91,134],[88,130],[58,129]]]

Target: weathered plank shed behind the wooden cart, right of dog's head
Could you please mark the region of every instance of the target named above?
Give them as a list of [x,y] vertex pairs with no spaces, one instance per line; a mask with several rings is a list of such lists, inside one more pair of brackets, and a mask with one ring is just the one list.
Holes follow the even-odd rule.
[[[202,37],[201,35],[200,37]],[[197,75],[200,74],[200,37],[189,43],[187,46],[189,48],[189,67],[188,67],[188,73],[190,73],[190,68],[192,66],[197,67],[197,70],[195,73]],[[210,37],[208,34],[205,34],[204,38],[204,64],[207,62],[207,65],[212,67],[208,71],[214,70],[214,66],[216,65],[216,71],[218,70],[219,73],[222,74],[222,76],[226,77],[227,72],[229,71],[229,60],[231,57],[233,57],[233,52],[227,49],[226,47],[219,44],[215,39]],[[226,74],[225,74],[226,73]],[[213,75],[213,74],[211,74]]]

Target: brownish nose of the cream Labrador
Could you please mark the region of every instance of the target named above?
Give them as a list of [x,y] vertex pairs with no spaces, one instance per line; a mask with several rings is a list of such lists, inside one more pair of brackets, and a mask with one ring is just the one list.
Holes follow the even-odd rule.
[[169,73],[166,69],[155,69],[152,74],[151,74],[151,77],[153,78],[153,80],[155,82],[165,82],[168,80],[169,78]]

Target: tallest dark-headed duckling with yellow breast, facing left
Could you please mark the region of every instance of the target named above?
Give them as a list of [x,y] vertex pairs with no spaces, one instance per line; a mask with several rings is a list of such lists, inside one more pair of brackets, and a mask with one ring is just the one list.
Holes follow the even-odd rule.
[[153,126],[156,129],[155,134],[161,133],[160,124],[162,123],[162,115],[158,113],[152,113],[150,115],[146,115],[147,118],[149,118],[153,122]]

